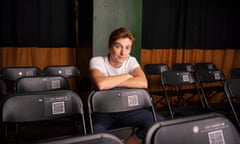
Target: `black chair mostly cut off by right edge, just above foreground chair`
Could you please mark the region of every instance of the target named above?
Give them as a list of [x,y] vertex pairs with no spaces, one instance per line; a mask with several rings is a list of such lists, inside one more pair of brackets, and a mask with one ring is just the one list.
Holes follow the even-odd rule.
[[230,111],[233,113],[234,119],[240,128],[240,79],[229,79],[224,83],[224,90],[230,104]]

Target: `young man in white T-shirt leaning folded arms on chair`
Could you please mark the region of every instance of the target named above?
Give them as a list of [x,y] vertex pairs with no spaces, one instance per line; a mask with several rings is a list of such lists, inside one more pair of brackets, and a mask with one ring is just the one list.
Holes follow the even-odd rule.
[[[114,30],[108,43],[108,55],[96,56],[90,60],[90,75],[97,90],[114,87],[147,88],[147,79],[137,62],[130,56],[135,36],[127,28]],[[164,117],[157,115],[158,121]],[[147,129],[154,123],[150,111],[134,110],[119,113],[97,113],[93,115],[94,133],[104,132],[114,122],[120,126],[136,127],[138,130],[125,140],[126,144],[141,143]]]

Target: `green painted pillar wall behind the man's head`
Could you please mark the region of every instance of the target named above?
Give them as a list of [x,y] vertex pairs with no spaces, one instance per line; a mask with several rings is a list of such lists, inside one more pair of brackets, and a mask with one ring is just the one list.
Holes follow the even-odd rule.
[[132,55],[140,62],[142,0],[93,0],[93,56],[108,53],[108,37],[119,27],[135,34]]

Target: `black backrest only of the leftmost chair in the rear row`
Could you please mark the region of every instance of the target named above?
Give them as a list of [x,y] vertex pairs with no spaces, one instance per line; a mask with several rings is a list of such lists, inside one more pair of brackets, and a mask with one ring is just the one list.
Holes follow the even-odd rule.
[[1,70],[1,78],[3,80],[15,81],[24,76],[40,76],[42,71],[35,66],[26,67],[5,67]]

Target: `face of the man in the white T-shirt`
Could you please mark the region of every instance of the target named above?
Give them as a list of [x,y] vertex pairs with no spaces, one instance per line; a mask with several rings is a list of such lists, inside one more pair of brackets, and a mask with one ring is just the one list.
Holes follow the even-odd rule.
[[116,40],[109,48],[110,62],[122,64],[130,55],[132,41],[129,38],[120,38]]

